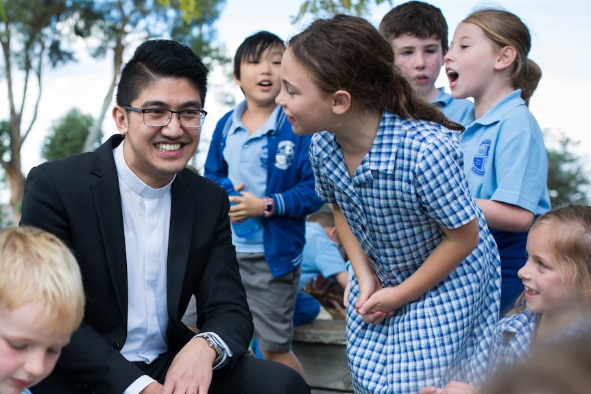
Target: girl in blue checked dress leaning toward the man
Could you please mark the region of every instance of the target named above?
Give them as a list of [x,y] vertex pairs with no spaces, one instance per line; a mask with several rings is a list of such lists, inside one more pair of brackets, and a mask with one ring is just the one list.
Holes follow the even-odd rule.
[[314,134],[317,194],[354,269],[356,393],[448,382],[498,318],[500,262],[462,171],[462,130],[416,99],[370,23],[337,15],[289,40],[276,101]]

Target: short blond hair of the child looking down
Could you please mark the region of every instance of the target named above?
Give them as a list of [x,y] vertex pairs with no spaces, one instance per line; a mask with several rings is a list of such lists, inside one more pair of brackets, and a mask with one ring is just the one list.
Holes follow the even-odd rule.
[[76,259],[60,239],[34,227],[0,231],[0,307],[34,304],[47,330],[73,332],[84,315]]

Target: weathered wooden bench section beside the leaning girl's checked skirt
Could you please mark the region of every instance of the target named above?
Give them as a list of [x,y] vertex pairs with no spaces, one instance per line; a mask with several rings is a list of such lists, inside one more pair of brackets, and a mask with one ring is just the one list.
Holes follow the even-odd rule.
[[312,394],[353,393],[344,320],[315,320],[293,328],[293,353]]

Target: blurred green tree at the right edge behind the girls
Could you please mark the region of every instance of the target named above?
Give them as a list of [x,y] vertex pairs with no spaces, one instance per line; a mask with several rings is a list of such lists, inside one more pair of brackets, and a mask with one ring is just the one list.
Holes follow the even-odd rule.
[[579,141],[568,138],[560,130],[544,130],[548,151],[548,190],[552,207],[564,204],[587,205],[585,188],[590,184],[579,157],[572,149]]

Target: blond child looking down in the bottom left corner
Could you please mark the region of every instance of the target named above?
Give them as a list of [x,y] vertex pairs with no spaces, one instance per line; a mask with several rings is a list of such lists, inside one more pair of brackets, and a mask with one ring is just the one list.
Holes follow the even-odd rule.
[[0,394],[29,393],[56,365],[82,322],[80,269],[56,236],[0,231]]

